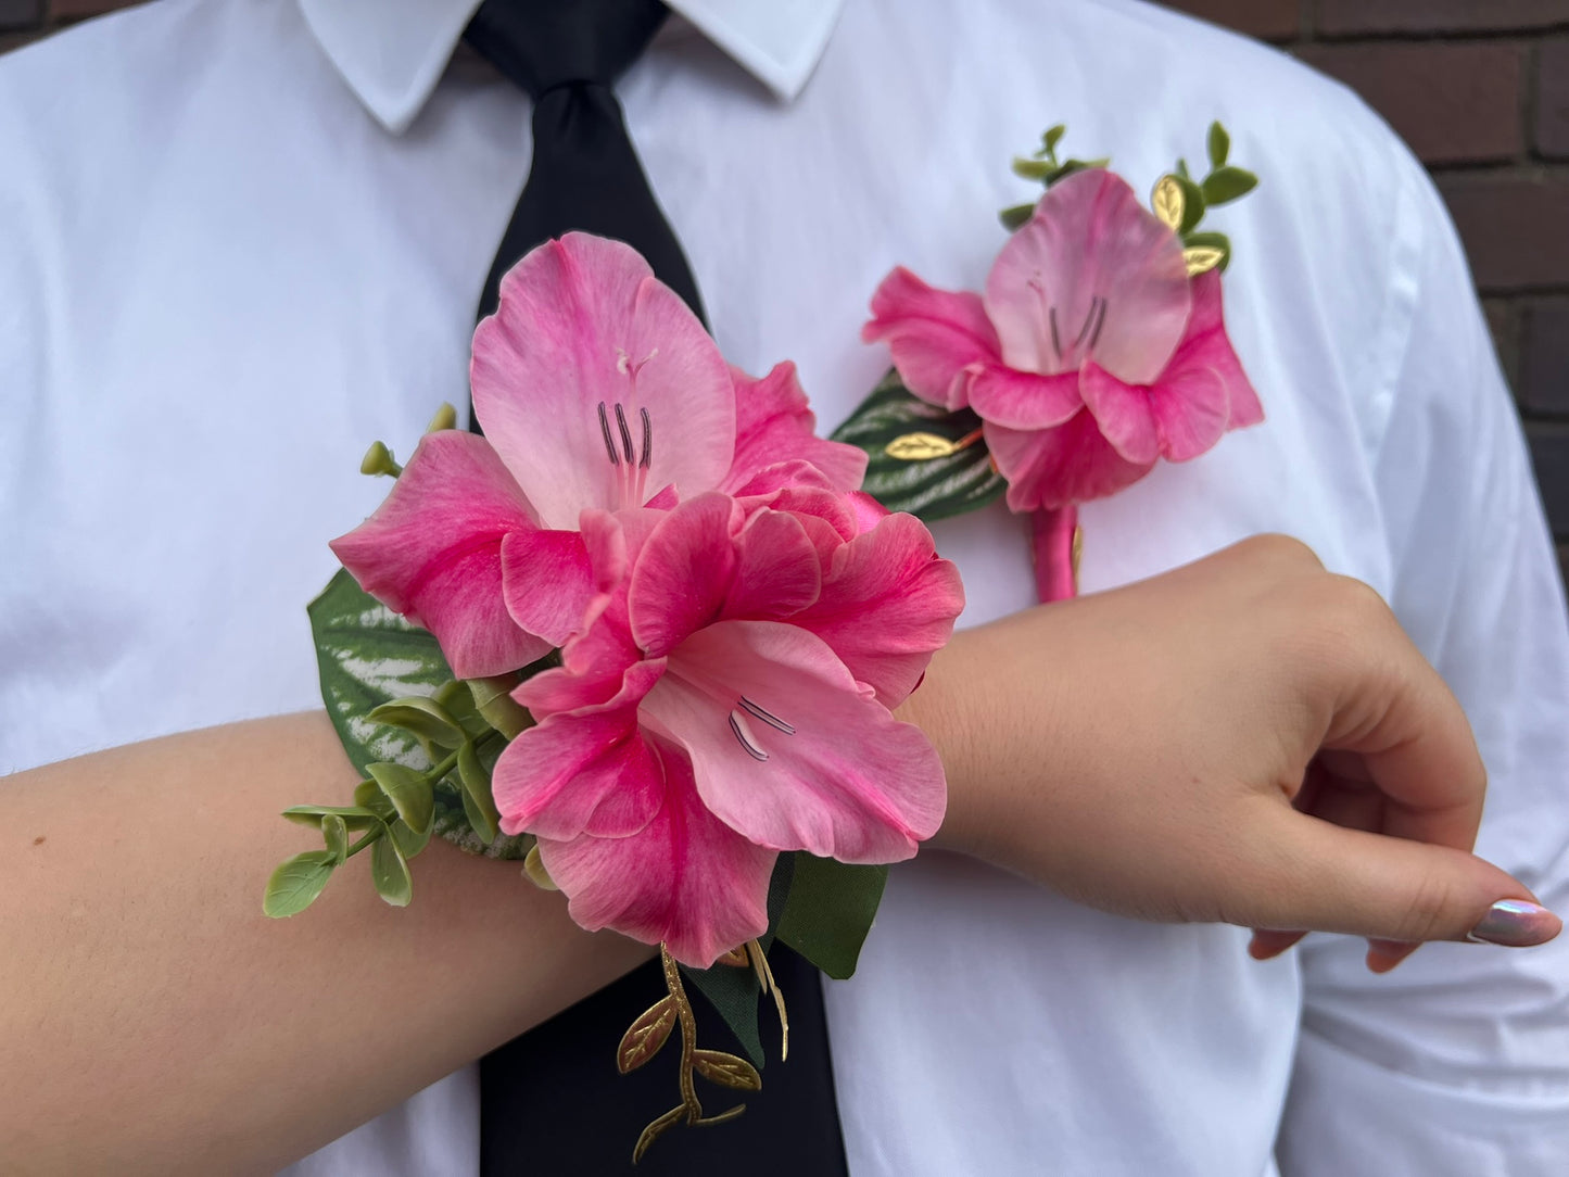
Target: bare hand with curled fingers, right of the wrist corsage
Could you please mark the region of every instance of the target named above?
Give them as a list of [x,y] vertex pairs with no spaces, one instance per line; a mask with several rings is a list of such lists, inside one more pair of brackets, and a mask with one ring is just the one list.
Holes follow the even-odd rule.
[[[937,844],[1163,921],[1550,940],[1470,854],[1486,772],[1459,703],[1367,585],[1260,537],[956,636],[901,716],[948,766]],[[1498,901],[1527,901],[1494,907]]]

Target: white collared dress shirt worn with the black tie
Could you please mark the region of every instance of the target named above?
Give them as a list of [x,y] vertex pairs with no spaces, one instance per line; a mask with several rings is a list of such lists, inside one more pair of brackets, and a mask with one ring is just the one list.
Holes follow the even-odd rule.
[[[304,604],[386,493],[359,455],[466,402],[527,169],[527,100],[452,56],[472,8],[160,0],[0,60],[0,771],[317,703]],[[620,85],[632,137],[725,355],[799,361],[828,427],[888,364],[858,341],[877,281],[979,289],[1045,126],[1147,190],[1227,124],[1261,185],[1211,220],[1268,419],[1086,507],[1083,587],[1263,530],[1373,584],[1476,728],[1480,851],[1569,907],[1564,601],[1459,245],[1395,137],[1139,0],[675,8]],[[967,623],[1031,603],[1020,519],[935,530]],[[971,860],[897,868],[827,987],[852,1172],[1569,1172],[1569,937],[1389,976],[1359,942],[1244,943]],[[477,1116],[471,1069],[295,1171],[474,1174]]]

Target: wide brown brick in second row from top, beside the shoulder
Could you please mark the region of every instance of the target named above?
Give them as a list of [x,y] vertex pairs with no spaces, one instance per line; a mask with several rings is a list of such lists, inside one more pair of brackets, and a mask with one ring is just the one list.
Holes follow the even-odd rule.
[[1523,149],[1523,46],[1304,46],[1298,56],[1340,78],[1428,163],[1508,160]]

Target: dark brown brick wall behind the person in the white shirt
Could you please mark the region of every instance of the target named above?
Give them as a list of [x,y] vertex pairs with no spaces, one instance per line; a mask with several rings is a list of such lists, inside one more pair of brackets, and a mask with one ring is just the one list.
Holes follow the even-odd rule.
[[[0,52],[126,0],[0,0]],[[1174,0],[1354,86],[1470,253],[1569,574],[1569,0]]]

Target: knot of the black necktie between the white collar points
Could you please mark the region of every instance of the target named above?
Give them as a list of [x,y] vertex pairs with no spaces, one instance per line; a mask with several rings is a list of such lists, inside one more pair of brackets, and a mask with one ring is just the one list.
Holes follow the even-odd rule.
[[485,0],[463,38],[538,102],[574,82],[613,85],[668,11],[664,0]]

